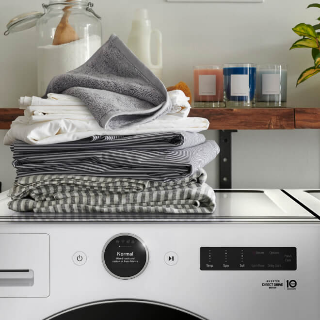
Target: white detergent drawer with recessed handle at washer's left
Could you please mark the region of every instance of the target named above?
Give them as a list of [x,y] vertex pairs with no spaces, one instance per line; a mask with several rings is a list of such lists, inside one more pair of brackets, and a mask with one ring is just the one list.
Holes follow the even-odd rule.
[[0,297],[48,297],[48,234],[0,234]]

